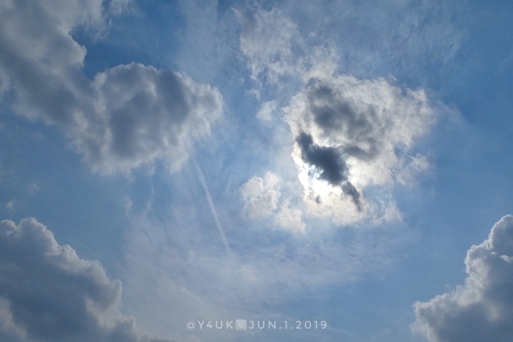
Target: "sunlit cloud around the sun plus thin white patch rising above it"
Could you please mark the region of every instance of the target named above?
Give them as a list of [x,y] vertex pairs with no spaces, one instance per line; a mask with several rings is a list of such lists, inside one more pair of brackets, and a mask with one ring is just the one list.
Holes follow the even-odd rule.
[[[396,183],[415,184],[418,173],[429,168],[425,155],[410,155],[435,122],[424,90],[401,89],[391,79],[337,74],[338,56],[330,43],[307,44],[277,7],[238,16],[241,51],[252,77],[268,85],[284,83],[282,76],[294,80],[288,83],[295,95],[281,109],[295,143],[292,158],[307,213],[344,225],[400,218],[384,192]],[[274,103],[278,106],[277,100],[263,103],[257,115],[269,117]],[[366,194],[371,186],[372,196]]]

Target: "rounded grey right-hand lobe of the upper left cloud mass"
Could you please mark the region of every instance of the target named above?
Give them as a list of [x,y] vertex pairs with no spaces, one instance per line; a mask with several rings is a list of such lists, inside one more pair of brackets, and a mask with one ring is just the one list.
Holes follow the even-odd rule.
[[95,112],[72,130],[87,162],[101,171],[130,170],[163,159],[179,166],[191,140],[210,133],[221,94],[176,72],[129,64],[94,78]]

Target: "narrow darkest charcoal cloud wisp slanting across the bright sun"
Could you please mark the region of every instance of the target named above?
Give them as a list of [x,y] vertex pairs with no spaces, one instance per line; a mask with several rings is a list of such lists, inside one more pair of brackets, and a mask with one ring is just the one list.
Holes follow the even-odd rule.
[[301,132],[295,139],[301,148],[301,156],[307,164],[319,171],[319,178],[333,186],[340,186],[351,197],[354,205],[361,210],[360,192],[347,179],[347,165],[338,151],[332,147],[318,146],[312,136]]

